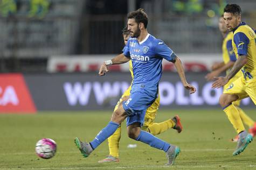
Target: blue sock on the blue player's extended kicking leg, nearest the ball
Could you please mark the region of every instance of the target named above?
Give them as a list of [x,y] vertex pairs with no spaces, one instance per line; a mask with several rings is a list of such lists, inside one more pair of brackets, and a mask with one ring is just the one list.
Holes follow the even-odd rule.
[[90,142],[93,149],[96,149],[103,141],[105,141],[109,136],[114,134],[116,129],[120,124],[110,121],[108,125],[103,128],[99,134],[94,138],[92,142]]

